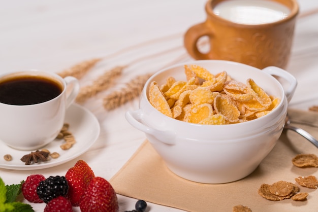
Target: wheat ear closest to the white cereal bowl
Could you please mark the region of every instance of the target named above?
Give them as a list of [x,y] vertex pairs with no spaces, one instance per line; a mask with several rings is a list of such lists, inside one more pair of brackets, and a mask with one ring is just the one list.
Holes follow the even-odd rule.
[[103,98],[104,108],[108,111],[118,108],[120,105],[133,100],[141,93],[145,83],[152,74],[139,75],[125,84],[125,87],[114,91]]

